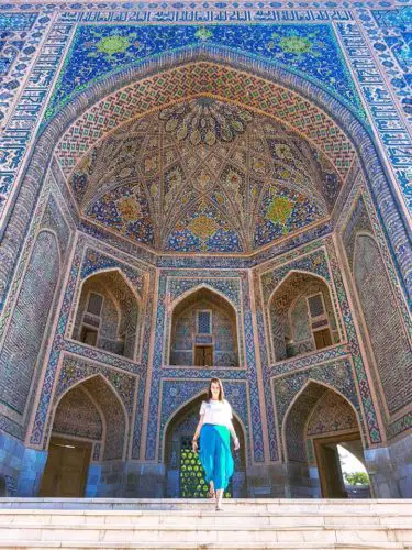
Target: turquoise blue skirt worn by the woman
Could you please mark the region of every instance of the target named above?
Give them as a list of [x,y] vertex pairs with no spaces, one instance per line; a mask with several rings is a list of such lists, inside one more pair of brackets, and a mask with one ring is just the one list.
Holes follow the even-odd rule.
[[199,458],[208,485],[212,481],[215,491],[225,490],[234,471],[231,432],[225,426],[203,424],[200,430]]

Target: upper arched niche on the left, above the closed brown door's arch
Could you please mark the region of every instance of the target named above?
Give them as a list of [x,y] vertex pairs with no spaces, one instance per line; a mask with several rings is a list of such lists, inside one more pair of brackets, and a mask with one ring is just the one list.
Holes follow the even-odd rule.
[[98,273],[82,285],[73,338],[88,345],[135,356],[138,304],[120,272]]

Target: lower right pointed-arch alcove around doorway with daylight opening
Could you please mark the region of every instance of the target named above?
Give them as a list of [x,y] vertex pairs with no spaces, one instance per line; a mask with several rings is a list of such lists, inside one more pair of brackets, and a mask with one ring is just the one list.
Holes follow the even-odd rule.
[[345,397],[309,382],[287,413],[283,444],[291,496],[348,497],[337,446],[361,462],[364,446],[357,415]]

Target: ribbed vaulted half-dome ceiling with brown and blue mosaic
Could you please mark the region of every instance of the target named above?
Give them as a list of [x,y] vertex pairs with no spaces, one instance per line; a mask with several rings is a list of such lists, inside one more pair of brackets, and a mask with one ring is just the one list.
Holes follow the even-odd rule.
[[265,246],[325,220],[341,184],[290,128],[207,96],[119,127],[70,176],[85,218],[178,253]]

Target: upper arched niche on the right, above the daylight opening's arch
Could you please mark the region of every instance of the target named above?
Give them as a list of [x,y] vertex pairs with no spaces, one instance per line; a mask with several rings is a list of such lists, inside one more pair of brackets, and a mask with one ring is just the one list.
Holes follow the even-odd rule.
[[329,286],[310,273],[289,274],[270,299],[269,318],[276,361],[339,341]]

